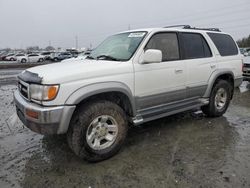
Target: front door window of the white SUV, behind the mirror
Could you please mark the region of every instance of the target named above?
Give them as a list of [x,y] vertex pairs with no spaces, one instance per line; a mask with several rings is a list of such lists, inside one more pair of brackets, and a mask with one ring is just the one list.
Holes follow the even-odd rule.
[[162,52],[162,61],[180,59],[176,33],[157,33],[148,42],[145,50],[157,49]]

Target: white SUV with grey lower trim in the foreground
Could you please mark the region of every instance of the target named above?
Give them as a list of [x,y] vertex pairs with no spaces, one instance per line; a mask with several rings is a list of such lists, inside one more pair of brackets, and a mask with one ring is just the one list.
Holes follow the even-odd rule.
[[67,133],[88,161],[113,156],[128,124],[201,107],[223,115],[242,82],[242,56],[217,29],[150,28],[107,38],[83,60],[20,74],[17,114],[41,134]]

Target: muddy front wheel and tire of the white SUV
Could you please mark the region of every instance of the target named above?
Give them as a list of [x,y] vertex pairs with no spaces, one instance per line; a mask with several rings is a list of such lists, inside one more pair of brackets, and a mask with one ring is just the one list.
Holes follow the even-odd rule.
[[84,104],[71,119],[68,144],[77,156],[102,161],[120,150],[127,129],[126,114],[117,104],[104,100]]

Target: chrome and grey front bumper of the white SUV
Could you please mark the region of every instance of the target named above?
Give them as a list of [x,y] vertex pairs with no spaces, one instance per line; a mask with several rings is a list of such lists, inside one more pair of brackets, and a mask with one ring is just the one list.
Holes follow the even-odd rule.
[[[32,131],[44,135],[67,132],[75,106],[40,106],[25,100],[19,91],[15,91],[14,100],[19,119]],[[26,110],[36,112],[38,114],[37,119],[28,116]]]

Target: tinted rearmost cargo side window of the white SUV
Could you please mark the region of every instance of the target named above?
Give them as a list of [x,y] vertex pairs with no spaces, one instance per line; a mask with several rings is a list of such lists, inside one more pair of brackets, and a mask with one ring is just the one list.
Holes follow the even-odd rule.
[[221,33],[208,33],[221,56],[238,54],[238,48],[230,35]]

